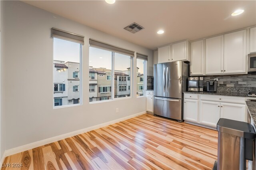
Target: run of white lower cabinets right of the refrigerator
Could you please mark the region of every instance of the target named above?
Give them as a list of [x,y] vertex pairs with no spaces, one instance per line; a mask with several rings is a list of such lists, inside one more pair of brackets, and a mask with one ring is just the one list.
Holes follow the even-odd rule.
[[[225,102],[223,102],[223,101]],[[221,102],[222,101],[222,102]],[[220,118],[246,122],[244,97],[184,94],[184,120],[216,127]]]

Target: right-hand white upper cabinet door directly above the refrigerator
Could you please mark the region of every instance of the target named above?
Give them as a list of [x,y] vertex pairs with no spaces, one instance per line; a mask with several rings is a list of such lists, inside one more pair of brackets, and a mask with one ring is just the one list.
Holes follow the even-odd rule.
[[187,41],[172,44],[172,61],[187,59]]

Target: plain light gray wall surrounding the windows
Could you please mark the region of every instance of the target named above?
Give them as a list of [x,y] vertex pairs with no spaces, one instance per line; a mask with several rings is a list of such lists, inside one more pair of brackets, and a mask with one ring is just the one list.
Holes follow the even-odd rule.
[[[136,98],[136,88],[133,88],[132,99],[89,104],[89,38],[148,55],[148,75],[153,75],[152,50],[20,1],[1,3],[1,16],[4,16],[1,18],[1,52],[4,54],[1,55],[1,113],[6,113],[1,121],[6,122],[6,133],[3,133],[6,150],[146,110],[146,97]],[[83,105],[52,108],[52,27],[85,36],[82,47]],[[134,73],[136,59],[133,61],[133,79],[136,80]],[[133,81],[133,87],[136,83]],[[117,107],[118,114],[115,113]],[[4,144],[1,141],[1,145]],[[1,154],[3,149],[1,146]]]

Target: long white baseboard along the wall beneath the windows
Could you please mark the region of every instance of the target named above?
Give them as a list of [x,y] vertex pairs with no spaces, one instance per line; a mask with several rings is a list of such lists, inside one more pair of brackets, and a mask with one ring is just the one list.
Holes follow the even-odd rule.
[[[16,148],[12,148],[12,149],[6,150],[5,151],[5,156],[10,156],[10,155],[13,155],[13,154],[24,152],[25,150],[30,150],[30,149],[36,148],[38,146],[42,146],[42,145],[45,145],[45,144],[56,142],[58,140],[69,138],[71,136],[75,136],[75,135],[78,135],[78,134],[81,134],[81,133],[85,133],[85,132],[88,132],[88,131],[91,131],[91,130],[95,130],[97,128],[102,128],[102,127],[105,127],[105,126],[108,126],[108,125],[112,125],[114,123],[118,123],[118,122],[124,121],[126,119],[131,119],[133,117],[136,117],[136,116],[139,116],[139,115],[143,115],[145,113],[146,113],[145,111],[144,112],[140,112],[140,113],[136,113],[134,115],[130,115],[130,116],[126,116],[126,117],[123,117],[123,118],[120,118],[120,119],[116,119],[114,121],[109,121],[109,122],[106,122],[106,123],[102,123],[100,125],[95,125],[95,126],[92,126],[92,127],[81,129],[81,130],[76,130],[74,132],[69,132],[69,133],[66,133],[66,134],[59,135],[59,136],[54,136],[52,138],[40,140],[40,141],[33,142],[33,143],[30,143],[30,144],[25,144],[23,146],[19,146],[19,147],[16,147]],[[5,156],[3,156],[3,158]]]

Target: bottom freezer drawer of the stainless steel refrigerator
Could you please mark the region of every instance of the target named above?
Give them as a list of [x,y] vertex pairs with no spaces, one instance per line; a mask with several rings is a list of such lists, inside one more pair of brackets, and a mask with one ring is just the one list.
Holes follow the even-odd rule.
[[154,96],[154,114],[182,120],[182,99]]

